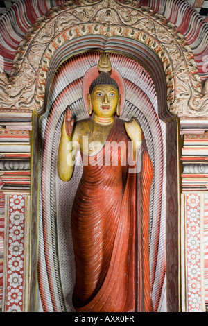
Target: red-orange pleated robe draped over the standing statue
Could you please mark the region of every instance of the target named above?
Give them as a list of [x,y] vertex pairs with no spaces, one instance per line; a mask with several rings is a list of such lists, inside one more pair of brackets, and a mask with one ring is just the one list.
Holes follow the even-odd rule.
[[88,164],[71,216],[78,312],[153,311],[148,253],[153,165],[143,141],[141,171],[130,171],[135,168],[128,164],[130,148],[124,122],[116,118],[103,149],[93,157],[82,154]]

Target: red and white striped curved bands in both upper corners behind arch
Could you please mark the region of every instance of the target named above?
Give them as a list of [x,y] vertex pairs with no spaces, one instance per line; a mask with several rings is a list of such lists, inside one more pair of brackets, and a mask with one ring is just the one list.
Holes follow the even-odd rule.
[[[0,18],[0,46],[2,51],[0,67],[7,74],[10,74],[17,46],[24,38],[26,31],[35,24],[37,18],[46,14],[50,8],[59,6],[67,2],[67,0],[18,0],[12,1],[12,6],[10,6],[11,3],[8,4],[8,1],[5,2],[7,7],[10,8]],[[205,22],[207,22],[208,17],[198,15],[196,10],[200,11],[200,14],[201,11],[208,10],[203,8],[206,7],[205,2],[193,0],[137,0],[138,6],[147,6],[155,12],[159,12],[184,35],[191,46],[202,80],[207,78],[206,44],[208,44],[208,26]],[[76,4],[78,4],[78,1],[76,1]]]

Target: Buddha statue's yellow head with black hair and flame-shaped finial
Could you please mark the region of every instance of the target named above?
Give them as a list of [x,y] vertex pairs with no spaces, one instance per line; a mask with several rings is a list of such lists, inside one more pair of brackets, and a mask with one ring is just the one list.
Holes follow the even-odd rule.
[[110,77],[111,71],[110,58],[101,55],[98,62],[99,75],[93,80],[87,94],[89,105],[89,114],[94,112],[97,117],[109,118],[115,113],[119,115],[120,95],[119,86],[116,81]]

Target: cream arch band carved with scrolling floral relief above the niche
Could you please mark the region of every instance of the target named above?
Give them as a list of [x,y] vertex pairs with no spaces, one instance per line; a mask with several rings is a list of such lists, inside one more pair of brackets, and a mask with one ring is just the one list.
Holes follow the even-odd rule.
[[67,1],[37,19],[19,44],[10,78],[0,75],[0,108],[41,113],[51,58],[67,42],[86,35],[123,37],[148,46],[164,68],[168,110],[178,116],[207,115],[207,83],[202,89],[184,36],[162,15],[137,8],[137,1]]

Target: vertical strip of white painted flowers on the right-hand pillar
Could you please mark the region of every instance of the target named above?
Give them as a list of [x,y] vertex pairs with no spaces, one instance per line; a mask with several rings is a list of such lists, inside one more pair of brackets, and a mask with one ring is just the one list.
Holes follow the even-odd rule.
[[202,311],[200,261],[200,194],[186,195],[188,311]]

